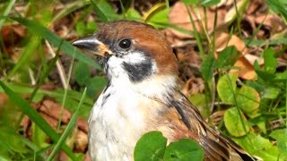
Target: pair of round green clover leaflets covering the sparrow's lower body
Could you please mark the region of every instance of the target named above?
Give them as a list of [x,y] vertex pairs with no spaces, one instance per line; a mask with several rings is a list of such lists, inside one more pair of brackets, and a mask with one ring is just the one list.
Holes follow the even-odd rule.
[[140,160],[204,160],[204,150],[194,140],[181,139],[167,146],[160,131],[145,133],[135,145],[135,161]]

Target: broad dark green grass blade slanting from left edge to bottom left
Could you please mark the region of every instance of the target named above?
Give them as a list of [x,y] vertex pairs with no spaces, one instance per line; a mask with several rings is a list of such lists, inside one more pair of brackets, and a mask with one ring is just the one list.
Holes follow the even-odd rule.
[[[0,81],[0,86],[4,89],[5,93],[10,97],[10,99],[22,110],[24,114],[27,114],[32,122],[36,123],[39,128],[44,131],[48,137],[54,142],[59,140],[57,132],[43,119],[41,115],[31,107],[26,101],[22,99],[19,95],[13,92],[13,90],[9,89],[4,82]],[[63,145],[63,150],[68,157],[71,157],[73,160],[76,159],[74,153],[70,148],[66,145]]]

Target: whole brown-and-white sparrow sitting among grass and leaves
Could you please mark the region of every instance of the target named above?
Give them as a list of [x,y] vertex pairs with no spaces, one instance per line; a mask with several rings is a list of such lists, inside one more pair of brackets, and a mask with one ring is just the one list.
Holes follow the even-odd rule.
[[168,142],[196,140],[206,161],[253,160],[180,93],[177,58],[160,30],[113,21],[73,45],[97,55],[109,80],[91,110],[91,160],[134,160],[136,141],[148,131],[161,131]]

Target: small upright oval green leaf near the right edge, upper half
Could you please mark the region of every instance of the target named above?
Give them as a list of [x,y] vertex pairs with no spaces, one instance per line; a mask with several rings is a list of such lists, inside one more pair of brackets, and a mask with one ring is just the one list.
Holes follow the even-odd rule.
[[269,72],[269,73],[276,72],[277,61],[274,55],[275,55],[275,52],[273,48],[265,49],[263,53],[265,72]]

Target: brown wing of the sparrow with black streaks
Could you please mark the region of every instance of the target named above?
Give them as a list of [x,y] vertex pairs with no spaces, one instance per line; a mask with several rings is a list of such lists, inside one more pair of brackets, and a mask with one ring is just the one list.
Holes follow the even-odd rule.
[[204,148],[204,160],[253,160],[233,141],[223,137],[219,131],[214,130],[207,123],[183,94],[176,94],[171,100],[171,106],[162,117],[161,127],[168,126],[168,130],[159,128],[168,133],[169,140],[190,138],[196,140]]

